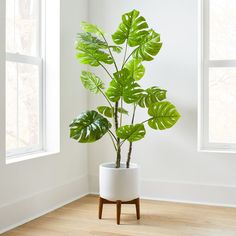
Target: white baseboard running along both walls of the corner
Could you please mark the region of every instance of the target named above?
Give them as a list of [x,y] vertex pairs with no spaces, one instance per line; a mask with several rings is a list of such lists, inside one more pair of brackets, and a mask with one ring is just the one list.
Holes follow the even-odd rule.
[[[60,208],[87,194],[98,194],[98,176],[67,184],[0,206],[0,234]],[[181,203],[236,207],[236,186],[141,180],[141,198]]]

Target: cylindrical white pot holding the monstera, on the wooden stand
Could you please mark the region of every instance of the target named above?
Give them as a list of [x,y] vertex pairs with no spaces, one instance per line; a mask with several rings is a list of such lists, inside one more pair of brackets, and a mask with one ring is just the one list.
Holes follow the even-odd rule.
[[99,166],[100,197],[110,201],[130,201],[139,197],[139,166],[130,163],[103,163]]

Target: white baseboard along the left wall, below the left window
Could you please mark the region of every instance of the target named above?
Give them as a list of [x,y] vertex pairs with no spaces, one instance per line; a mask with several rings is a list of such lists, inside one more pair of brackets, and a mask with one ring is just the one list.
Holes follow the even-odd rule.
[[88,194],[83,176],[66,184],[0,206],[0,234],[38,218]]

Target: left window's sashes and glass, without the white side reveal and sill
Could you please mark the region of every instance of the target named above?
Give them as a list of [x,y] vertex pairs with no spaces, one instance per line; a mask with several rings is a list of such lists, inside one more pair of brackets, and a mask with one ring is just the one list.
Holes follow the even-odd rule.
[[7,156],[43,149],[44,37],[40,0],[6,1]]

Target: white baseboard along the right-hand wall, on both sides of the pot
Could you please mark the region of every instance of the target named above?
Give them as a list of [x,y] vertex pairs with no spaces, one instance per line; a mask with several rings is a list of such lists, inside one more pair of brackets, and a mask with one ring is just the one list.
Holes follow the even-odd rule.
[[[89,175],[89,191],[97,194],[98,176]],[[141,179],[142,199],[236,207],[236,186]]]

